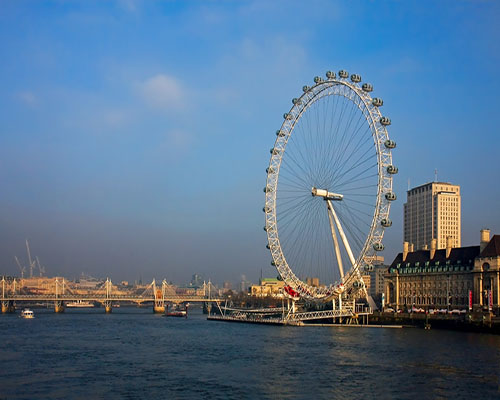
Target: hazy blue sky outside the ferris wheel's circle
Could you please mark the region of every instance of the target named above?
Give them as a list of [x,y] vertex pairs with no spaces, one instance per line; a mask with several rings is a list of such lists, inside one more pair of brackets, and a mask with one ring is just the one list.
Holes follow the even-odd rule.
[[215,282],[276,276],[269,148],[313,77],[358,73],[408,185],[461,186],[462,245],[500,234],[497,1],[0,4],[0,274]]

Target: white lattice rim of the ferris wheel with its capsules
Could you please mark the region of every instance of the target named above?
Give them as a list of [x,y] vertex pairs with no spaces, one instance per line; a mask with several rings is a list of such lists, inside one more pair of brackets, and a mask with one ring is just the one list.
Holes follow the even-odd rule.
[[[341,71],[346,75],[345,71]],[[340,73],[339,73],[340,74]],[[333,75],[333,77],[332,77]],[[387,143],[389,140],[386,126],[390,120],[383,117],[379,110],[379,105],[375,105],[376,100],[370,96],[371,85],[358,85],[360,77],[351,75],[351,81],[348,75],[337,78],[335,74],[327,73],[327,79],[315,78],[315,85],[305,86],[304,93],[298,99],[294,99],[294,104],[290,111],[285,114],[284,121],[279,131],[273,149],[271,150],[271,159],[267,169],[267,181],[265,191],[265,230],[268,237],[268,248],[271,251],[273,264],[284,282],[297,291],[301,296],[309,299],[329,298],[333,295],[342,293],[344,290],[356,285],[361,280],[360,268],[364,265],[370,265],[376,255],[376,251],[383,248],[381,242],[384,235],[385,225],[389,220],[389,210],[391,201],[395,199],[392,192],[392,153]],[[368,85],[368,86],[366,86]],[[366,89],[366,90],[365,90]],[[278,192],[278,180],[286,145],[298,121],[304,113],[317,101],[326,96],[343,96],[345,99],[353,102],[361,111],[369,125],[374,145],[376,148],[378,183],[376,194],[376,205],[371,221],[368,236],[364,242],[363,248],[356,258],[356,262],[345,274],[342,281],[335,282],[323,287],[315,287],[299,279],[293,269],[287,262],[285,254],[279,239],[279,227],[276,215],[276,195]],[[384,120],[385,119],[385,120]],[[387,123],[389,121],[389,123]],[[384,122],[384,123],[382,123]],[[394,142],[392,142],[394,143]],[[395,146],[395,144],[394,144]],[[397,169],[395,169],[397,172]],[[391,172],[389,172],[391,171]],[[390,226],[390,225],[389,225]]]

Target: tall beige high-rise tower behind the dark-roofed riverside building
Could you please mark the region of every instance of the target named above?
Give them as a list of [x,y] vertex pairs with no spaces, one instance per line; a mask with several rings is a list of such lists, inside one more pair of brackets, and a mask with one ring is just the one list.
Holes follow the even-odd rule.
[[436,239],[438,249],[461,246],[460,186],[430,182],[408,190],[404,205],[404,241],[415,250]]

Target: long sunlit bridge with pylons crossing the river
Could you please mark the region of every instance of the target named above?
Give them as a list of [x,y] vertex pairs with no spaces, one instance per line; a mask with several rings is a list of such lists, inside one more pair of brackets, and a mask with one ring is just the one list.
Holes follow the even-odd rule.
[[161,285],[157,285],[153,279],[150,285],[140,294],[132,293],[116,293],[117,290],[113,289],[113,284],[108,278],[101,287],[89,293],[81,294],[68,288],[65,280],[54,280],[53,293],[46,294],[31,294],[22,293],[19,283],[16,287],[16,281],[7,282],[5,277],[2,278],[2,313],[9,313],[15,311],[15,306],[23,302],[37,302],[37,303],[54,303],[54,311],[56,313],[63,312],[65,304],[68,302],[98,302],[104,306],[106,313],[110,313],[113,304],[120,302],[136,303],[141,305],[143,303],[151,303],[155,313],[164,313],[168,303],[181,304],[181,303],[211,303],[221,302],[222,299],[217,296],[212,296],[214,288],[209,282],[204,283],[202,286],[202,295],[180,295],[175,292],[175,288],[169,285],[166,280],[163,280]]

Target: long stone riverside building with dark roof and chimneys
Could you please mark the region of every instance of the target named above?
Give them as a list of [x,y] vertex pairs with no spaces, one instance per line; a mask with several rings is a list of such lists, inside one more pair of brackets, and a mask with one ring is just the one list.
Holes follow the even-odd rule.
[[[408,251],[405,243],[385,276],[386,304],[396,310],[424,309],[493,311],[500,307],[500,235],[490,240],[481,231],[481,245]],[[471,304],[472,303],[472,304]]]

